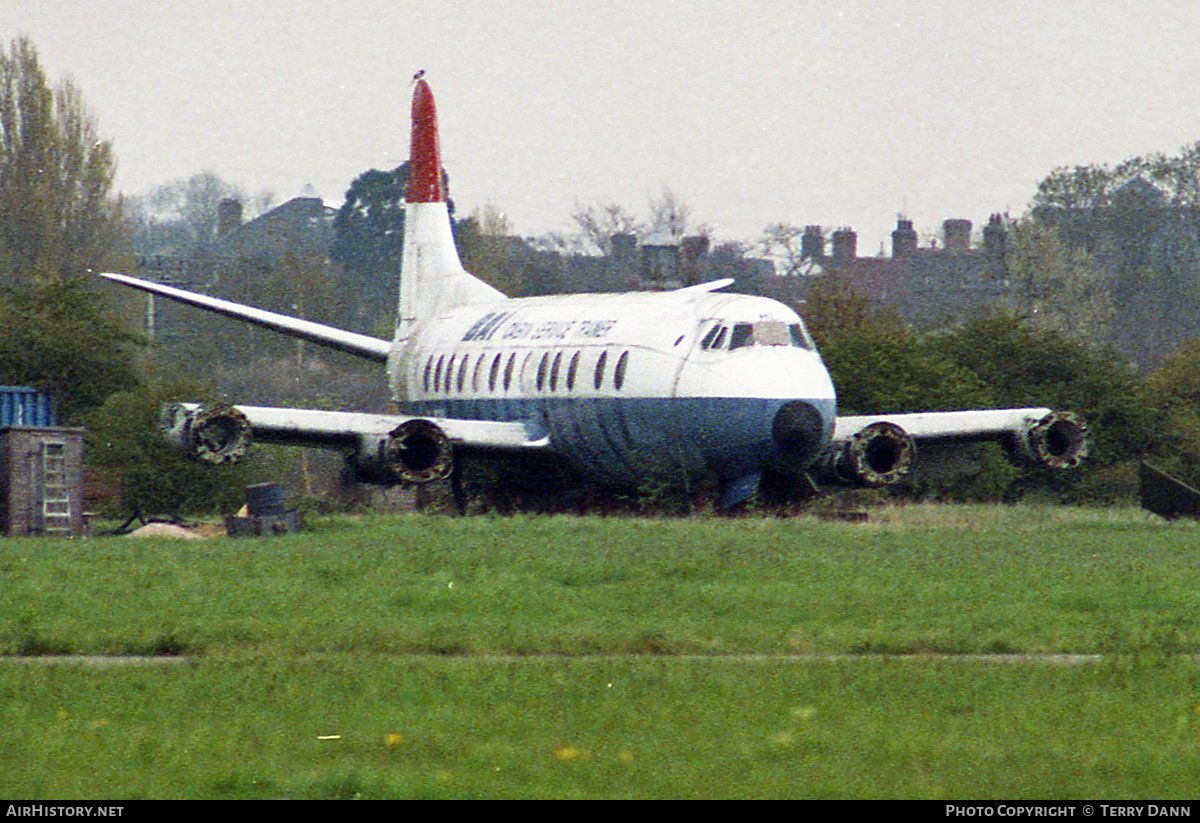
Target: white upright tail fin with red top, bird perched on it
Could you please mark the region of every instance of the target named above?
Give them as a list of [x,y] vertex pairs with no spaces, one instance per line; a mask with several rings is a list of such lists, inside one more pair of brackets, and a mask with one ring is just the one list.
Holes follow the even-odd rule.
[[504,300],[502,292],[467,274],[458,259],[442,178],[437,108],[433,92],[420,78],[413,89],[413,137],[404,200],[396,340],[407,340],[419,320],[455,306]]

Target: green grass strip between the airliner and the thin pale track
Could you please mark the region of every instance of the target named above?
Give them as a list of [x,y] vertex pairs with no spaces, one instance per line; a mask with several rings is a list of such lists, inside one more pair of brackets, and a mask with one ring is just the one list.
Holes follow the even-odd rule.
[[0,654],[1200,651],[1192,524],[947,512],[4,540]]

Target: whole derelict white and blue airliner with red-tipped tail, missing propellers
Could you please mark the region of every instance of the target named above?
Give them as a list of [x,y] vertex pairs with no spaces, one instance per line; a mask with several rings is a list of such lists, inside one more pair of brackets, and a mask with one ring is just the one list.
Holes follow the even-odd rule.
[[673,292],[509,299],[458,260],[437,113],[416,78],[396,335],[383,341],[158,283],[108,280],[386,364],[397,414],[178,404],[168,438],[239,459],[251,439],[340,449],[371,482],[448,476],[456,451],[546,453],[608,485],[721,479],[722,506],[764,471],[841,485],[904,476],[916,443],[1002,441],[1032,465],[1087,453],[1086,423],[1045,408],[839,417],[804,322],[731,280]]

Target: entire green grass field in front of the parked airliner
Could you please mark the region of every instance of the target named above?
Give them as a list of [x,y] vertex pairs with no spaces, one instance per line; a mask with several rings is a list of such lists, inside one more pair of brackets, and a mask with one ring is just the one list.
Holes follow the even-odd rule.
[[0,665],[0,794],[1194,797],[1198,539],[910,506],[5,540],[0,653],[186,661]]

